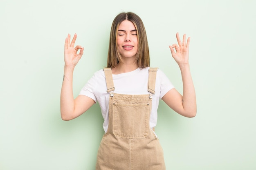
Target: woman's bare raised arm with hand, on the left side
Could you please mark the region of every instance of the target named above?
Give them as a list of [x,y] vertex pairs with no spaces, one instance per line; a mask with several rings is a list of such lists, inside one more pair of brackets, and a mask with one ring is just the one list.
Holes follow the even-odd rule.
[[[83,55],[84,49],[79,45],[74,47],[76,37],[77,35],[75,34],[70,43],[70,34],[68,34],[65,40],[65,66],[61,88],[61,118],[63,120],[71,120],[80,116],[95,103],[93,99],[84,95],[79,95],[76,99],[73,96],[73,72],[76,64]],[[77,54],[78,51],[79,54]]]

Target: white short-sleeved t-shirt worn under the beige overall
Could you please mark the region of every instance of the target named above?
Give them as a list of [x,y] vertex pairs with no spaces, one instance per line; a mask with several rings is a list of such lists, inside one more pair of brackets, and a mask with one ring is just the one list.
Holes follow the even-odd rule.
[[[113,74],[115,86],[114,93],[125,95],[145,95],[148,92],[148,69],[149,67],[121,74]],[[155,95],[152,100],[152,110],[150,115],[150,128],[154,128],[157,124],[157,108],[159,99],[174,88],[173,84],[161,71],[157,70],[155,82]],[[81,89],[79,95],[86,95],[95,102],[99,102],[101,114],[104,119],[103,129],[108,130],[108,103],[109,93],[107,93],[106,78],[103,69],[94,73],[91,79]]]

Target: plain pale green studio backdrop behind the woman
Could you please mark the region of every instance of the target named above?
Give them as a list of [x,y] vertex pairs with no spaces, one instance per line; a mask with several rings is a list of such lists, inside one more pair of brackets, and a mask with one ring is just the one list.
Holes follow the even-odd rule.
[[93,170],[103,135],[96,104],[63,121],[64,42],[85,47],[74,95],[106,66],[112,20],[137,13],[150,66],[182,93],[168,45],[191,36],[198,113],[186,118],[160,101],[156,132],[167,170],[256,169],[256,2],[253,0],[1,0],[0,170]]

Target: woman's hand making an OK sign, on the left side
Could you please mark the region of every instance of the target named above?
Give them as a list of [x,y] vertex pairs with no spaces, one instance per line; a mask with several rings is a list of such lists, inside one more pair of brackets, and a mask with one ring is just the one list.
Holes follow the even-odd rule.
[[[70,66],[75,67],[83,55],[84,48],[82,46],[77,45],[76,47],[74,47],[76,42],[76,37],[77,35],[75,34],[72,42],[70,43],[70,34],[68,34],[65,40],[64,61],[65,61],[65,66],[68,66],[68,67]],[[77,54],[79,49],[80,49],[79,54]]]

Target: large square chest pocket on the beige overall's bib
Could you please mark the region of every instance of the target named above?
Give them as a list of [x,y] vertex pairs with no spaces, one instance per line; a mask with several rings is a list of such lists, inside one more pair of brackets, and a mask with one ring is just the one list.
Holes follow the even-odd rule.
[[122,138],[145,138],[149,130],[150,104],[113,103],[113,133]]

